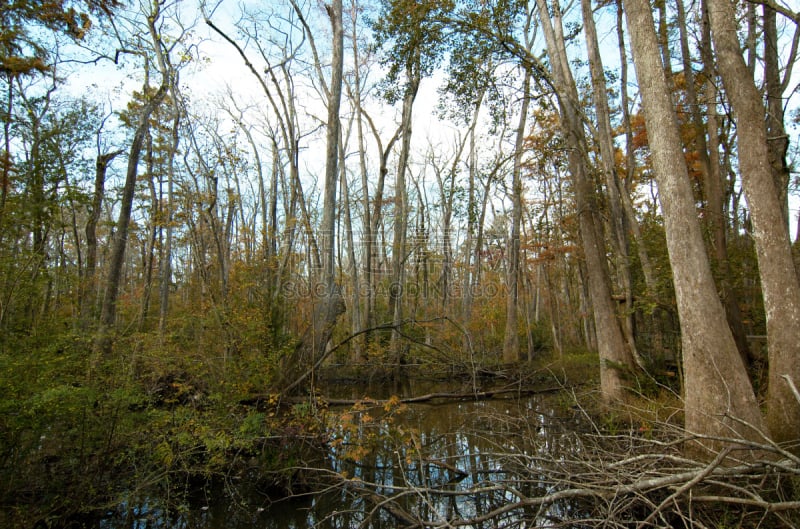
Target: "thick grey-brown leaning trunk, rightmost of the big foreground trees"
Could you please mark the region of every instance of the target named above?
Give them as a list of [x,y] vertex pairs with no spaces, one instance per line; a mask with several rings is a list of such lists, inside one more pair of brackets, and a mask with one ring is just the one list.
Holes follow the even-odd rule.
[[776,441],[800,438],[800,282],[792,260],[787,218],[776,188],[761,96],[737,36],[730,0],[708,0],[711,34],[738,133],[739,169],[753,224],[761,291],[767,317],[769,391],[767,424]]

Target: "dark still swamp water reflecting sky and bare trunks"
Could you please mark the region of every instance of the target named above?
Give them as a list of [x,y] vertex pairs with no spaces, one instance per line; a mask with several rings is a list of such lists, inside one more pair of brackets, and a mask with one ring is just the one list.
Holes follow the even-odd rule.
[[[314,480],[315,492],[276,500],[246,477],[201,487],[179,512],[165,513],[153,499],[122,506],[99,520],[98,529],[388,529],[429,522],[477,520],[466,527],[535,527],[547,520],[580,518],[570,502],[545,509],[488,513],[526,497],[552,493],[539,469],[581,451],[579,410],[557,395],[513,391],[484,400],[433,399],[401,404],[401,398],[464,391],[441,382],[404,387],[343,384],[331,398],[370,399],[329,410],[330,453]],[[522,479],[521,479],[522,477]],[[389,499],[391,499],[389,501]],[[486,518],[483,521],[480,519]]]

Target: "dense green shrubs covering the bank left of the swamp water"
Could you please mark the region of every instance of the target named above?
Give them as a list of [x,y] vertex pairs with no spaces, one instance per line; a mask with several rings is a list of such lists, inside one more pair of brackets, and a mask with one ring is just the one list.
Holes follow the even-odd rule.
[[49,523],[157,490],[177,499],[187,480],[253,464],[269,475],[318,444],[316,407],[286,414],[276,400],[265,409],[240,403],[269,382],[260,352],[185,354],[146,334],[118,350],[97,359],[90,337],[75,333],[3,342],[0,503],[11,517],[0,516],[4,527]]

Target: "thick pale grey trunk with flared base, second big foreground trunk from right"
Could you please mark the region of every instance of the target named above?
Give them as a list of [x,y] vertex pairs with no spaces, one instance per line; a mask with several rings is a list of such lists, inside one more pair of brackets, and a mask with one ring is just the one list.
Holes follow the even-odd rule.
[[[763,421],[717,296],[647,0],[625,0],[681,321],[686,428],[759,439]],[[658,133],[655,133],[658,131]],[[720,442],[704,441],[712,450]]]

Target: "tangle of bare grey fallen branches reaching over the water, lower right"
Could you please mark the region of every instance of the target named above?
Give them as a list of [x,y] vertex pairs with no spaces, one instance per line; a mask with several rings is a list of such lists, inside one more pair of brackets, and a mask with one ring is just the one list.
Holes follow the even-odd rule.
[[422,441],[395,446],[378,458],[394,465],[388,482],[380,472],[335,474],[360,508],[329,518],[365,529],[800,526],[800,458],[766,439],[722,440],[728,448],[708,459],[686,446],[720,439],[669,425],[558,437],[529,426],[492,417],[469,432],[486,441],[480,453],[439,451],[436,465]]

